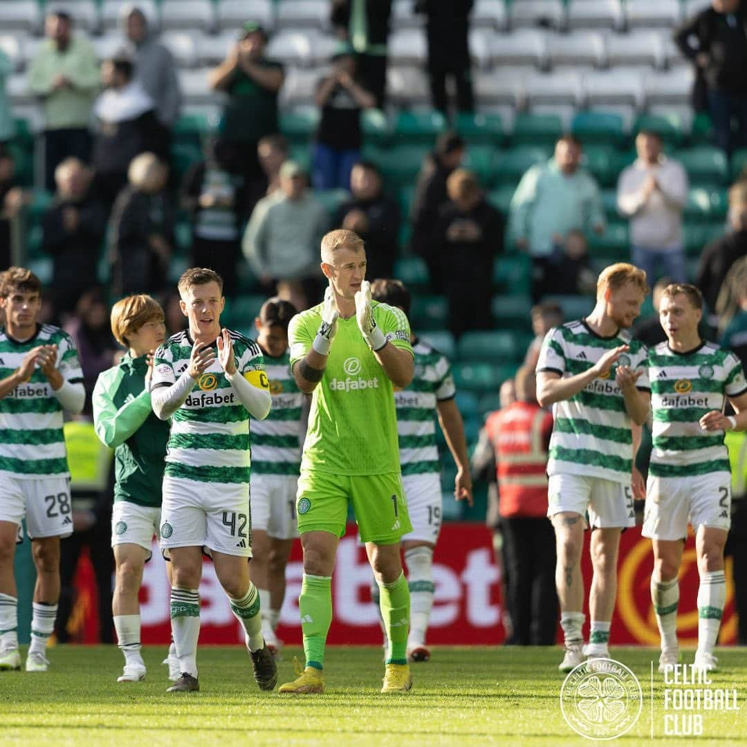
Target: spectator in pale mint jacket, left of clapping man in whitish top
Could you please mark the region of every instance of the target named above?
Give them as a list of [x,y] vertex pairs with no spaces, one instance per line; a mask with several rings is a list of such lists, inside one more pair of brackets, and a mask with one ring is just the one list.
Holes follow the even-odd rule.
[[533,260],[533,297],[539,300],[552,255],[573,229],[604,231],[604,211],[593,176],[579,167],[581,145],[564,135],[547,164],[531,167],[511,200],[509,236]]

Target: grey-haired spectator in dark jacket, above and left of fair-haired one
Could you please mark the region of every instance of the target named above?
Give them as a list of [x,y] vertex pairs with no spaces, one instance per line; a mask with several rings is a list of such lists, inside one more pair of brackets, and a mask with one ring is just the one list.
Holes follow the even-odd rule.
[[55,311],[69,314],[81,294],[99,282],[106,207],[90,189],[91,173],[80,159],[66,158],[55,181],[55,201],[42,219],[42,249],[52,257]]

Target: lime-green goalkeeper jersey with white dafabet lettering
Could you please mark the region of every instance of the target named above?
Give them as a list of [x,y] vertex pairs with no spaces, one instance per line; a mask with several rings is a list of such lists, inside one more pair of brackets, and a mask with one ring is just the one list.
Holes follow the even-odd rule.
[[[372,302],[387,340],[412,355],[406,315]],[[288,327],[291,368],[311,350],[322,304],[297,314]],[[355,315],[338,319],[322,380],[311,398],[302,470],[371,475],[400,471],[394,387],[363,338]]]

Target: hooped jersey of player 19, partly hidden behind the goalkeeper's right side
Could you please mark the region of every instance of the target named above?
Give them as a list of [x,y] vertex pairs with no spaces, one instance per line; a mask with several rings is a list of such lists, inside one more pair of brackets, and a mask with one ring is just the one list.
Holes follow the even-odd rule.
[[441,472],[436,446],[436,404],[456,395],[454,377],[445,356],[427,342],[416,341],[415,375],[410,385],[394,392],[402,475]]

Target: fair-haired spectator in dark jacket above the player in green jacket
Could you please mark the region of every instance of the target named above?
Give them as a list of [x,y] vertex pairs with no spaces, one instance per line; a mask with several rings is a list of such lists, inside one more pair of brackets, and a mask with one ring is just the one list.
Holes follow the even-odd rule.
[[129,185],[111,211],[109,258],[111,293],[155,293],[167,283],[173,247],[173,208],[165,190],[166,164],[152,153],[140,153],[128,170]]

